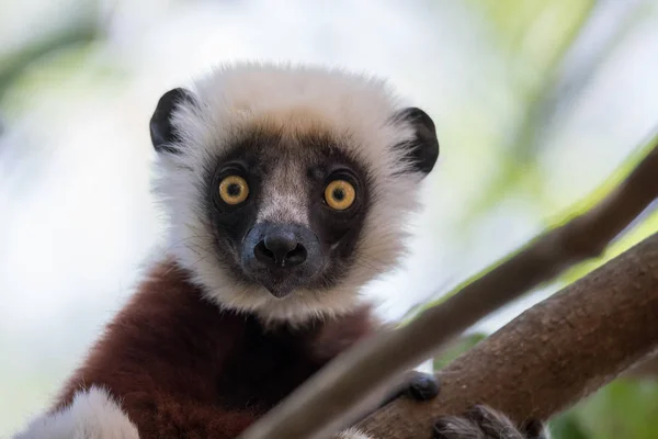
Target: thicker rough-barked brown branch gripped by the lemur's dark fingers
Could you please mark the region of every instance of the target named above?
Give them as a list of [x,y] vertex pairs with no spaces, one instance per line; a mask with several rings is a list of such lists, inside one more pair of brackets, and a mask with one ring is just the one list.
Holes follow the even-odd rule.
[[364,419],[374,437],[429,437],[439,415],[489,404],[546,419],[658,346],[658,234],[527,309],[444,369],[440,396]]

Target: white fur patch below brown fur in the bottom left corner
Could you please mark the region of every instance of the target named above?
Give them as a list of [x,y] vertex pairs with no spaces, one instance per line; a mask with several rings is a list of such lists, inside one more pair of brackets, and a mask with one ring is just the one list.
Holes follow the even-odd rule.
[[73,402],[32,420],[12,439],[139,439],[137,428],[104,390],[78,392]]

